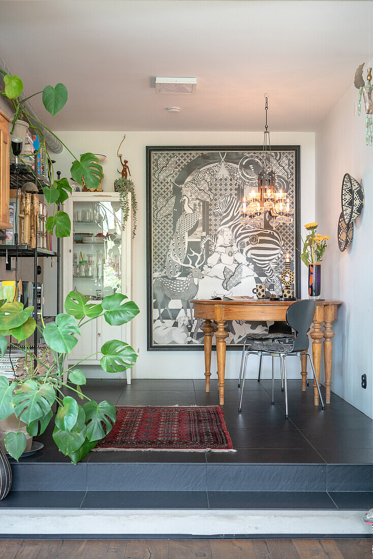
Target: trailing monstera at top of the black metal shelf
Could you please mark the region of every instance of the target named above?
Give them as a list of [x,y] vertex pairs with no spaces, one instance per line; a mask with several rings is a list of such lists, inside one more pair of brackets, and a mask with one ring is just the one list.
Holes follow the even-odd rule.
[[[67,200],[69,196],[68,193],[72,192],[72,188],[70,187],[67,178],[60,178],[57,180],[54,178],[53,163],[46,149],[43,129],[48,130],[48,132],[50,132],[51,135],[58,139],[59,142],[64,146],[64,148],[67,149],[68,152],[72,155],[74,161],[70,169],[70,173],[75,182],[82,184],[84,177],[84,183],[86,184],[87,188],[98,188],[103,179],[100,161],[98,160],[96,155],[93,155],[93,153],[83,153],[81,155],[81,158],[77,159],[72,151],[69,150],[67,145],[65,145],[63,141],[58,138],[58,136],[56,136],[51,130],[49,130],[45,126],[45,124],[35,119],[34,116],[30,115],[29,111],[27,111],[27,108],[25,107],[25,101],[41,94],[44,107],[50,113],[50,115],[55,116],[60,110],[62,110],[67,102],[67,88],[64,86],[63,83],[58,83],[55,87],[46,86],[43,91],[38,91],[37,93],[30,95],[29,97],[21,99],[20,95],[23,91],[23,83],[21,78],[17,75],[12,76],[10,74],[7,74],[3,70],[0,70],[0,73],[3,74],[4,80],[4,91],[0,91],[0,95],[10,100],[15,111],[15,115],[12,120],[11,133],[17,120],[19,120],[20,118],[25,120],[29,124],[29,128],[35,131],[35,134],[39,136],[39,151],[43,147],[48,159],[50,167],[50,169],[48,169],[48,174],[51,186],[44,187],[43,193],[46,202],[48,204],[54,204],[54,214],[53,216],[49,216],[46,220],[46,229],[48,229],[48,231],[51,231],[51,233],[55,231],[55,235],[57,237],[68,237],[71,232],[70,218],[66,212],[58,210],[57,205],[58,202],[63,203],[65,200]],[[39,153],[39,151],[37,153]]]

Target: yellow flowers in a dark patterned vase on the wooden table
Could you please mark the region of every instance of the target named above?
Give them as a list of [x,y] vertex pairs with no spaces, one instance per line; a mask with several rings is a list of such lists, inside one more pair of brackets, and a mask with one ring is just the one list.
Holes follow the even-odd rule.
[[300,254],[302,262],[308,266],[308,295],[310,299],[320,299],[321,293],[321,263],[327,248],[329,235],[317,234],[317,222],[304,226],[306,238],[302,239],[303,252]]

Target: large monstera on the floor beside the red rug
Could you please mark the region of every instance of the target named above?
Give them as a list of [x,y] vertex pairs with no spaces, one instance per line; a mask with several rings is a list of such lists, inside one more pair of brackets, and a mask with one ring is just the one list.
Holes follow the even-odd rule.
[[[78,343],[81,326],[98,316],[113,326],[128,323],[139,313],[133,301],[126,301],[121,293],[103,297],[101,304],[89,302],[89,297],[71,291],[65,300],[65,311],[56,316],[55,322],[42,326],[31,318],[34,307],[23,308],[20,302],[0,301],[0,353],[6,352],[7,339],[12,335],[18,340],[18,349],[24,343],[26,374],[20,380],[10,381],[0,376],[0,420],[15,414],[27,425],[32,437],[44,433],[54,420],[53,439],[60,451],[76,464],[96,446],[97,441],[110,432],[115,423],[115,406],[108,401],[97,403],[83,395],[86,377],[79,364],[65,366],[70,351]],[[53,359],[46,364],[27,345],[27,338],[40,331]],[[130,345],[120,340],[109,340],[102,345],[101,367],[109,373],[118,373],[133,367],[136,353]],[[96,355],[96,354],[93,354]],[[92,356],[89,356],[92,357]],[[54,362],[53,362],[54,361]],[[75,397],[69,396],[73,392]],[[56,402],[54,415],[52,405]],[[80,403],[78,403],[80,402]],[[85,403],[84,403],[85,402]],[[4,440],[7,452],[18,461],[26,448],[26,435],[20,431],[10,432]]]

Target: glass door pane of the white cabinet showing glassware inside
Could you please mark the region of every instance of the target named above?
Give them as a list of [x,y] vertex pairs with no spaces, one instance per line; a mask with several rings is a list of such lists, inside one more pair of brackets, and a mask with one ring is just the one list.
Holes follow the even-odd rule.
[[122,211],[117,201],[73,203],[73,290],[101,300],[122,285]]

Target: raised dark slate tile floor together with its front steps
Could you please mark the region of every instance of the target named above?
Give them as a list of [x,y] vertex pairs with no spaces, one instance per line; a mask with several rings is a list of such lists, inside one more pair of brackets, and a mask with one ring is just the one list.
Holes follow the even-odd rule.
[[[116,405],[218,405],[217,380],[211,378],[210,394],[205,392],[203,379],[134,380],[128,386],[125,381],[91,380],[85,393],[92,399],[107,399]],[[0,501],[0,507],[370,508],[373,505],[373,421],[335,394],[332,403],[322,411],[313,405],[312,386],[306,392],[301,392],[300,380],[289,381],[288,386],[290,417],[286,420],[279,381],[272,406],[271,382],[247,380],[241,414],[237,380],[226,381],[223,411],[235,453],[91,452],[80,465],[73,467],[75,485],[71,485],[71,473],[66,470],[69,489],[74,490],[63,491],[62,487],[53,485],[35,485],[37,491],[23,490],[25,487],[22,483],[17,485],[15,476],[15,490]],[[32,480],[32,472],[40,473],[40,468],[45,468],[45,479],[48,476],[53,479],[49,467],[70,468],[69,459],[56,449],[51,430],[49,427],[38,438],[44,443],[44,449],[14,464],[14,471],[27,465]],[[121,465],[127,465],[129,477],[132,468],[136,477],[138,466],[156,472],[167,464],[176,468],[175,479],[185,475],[198,481],[190,488],[192,491],[179,486],[176,492],[172,480],[170,486],[162,479],[157,491],[152,490],[151,483],[141,491],[136,486],[116,486],[116,472]],[[89,480],[89,471],[97,472],[95,467],[103,468],[101,479],[105,476],[106,483],[97,482],[97,473],[92,473],[91,484],[87,482],[84,486],[84,475]],[[202,473],[201,468],[204,471],[207,468],[207,473]],[[64,477],[63,470],[60,472]],[[259,472],[265,484],[257,490],[258,484],[252,480],[255,481]],[[184,489],[188,489],[187,484]]]

